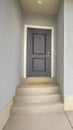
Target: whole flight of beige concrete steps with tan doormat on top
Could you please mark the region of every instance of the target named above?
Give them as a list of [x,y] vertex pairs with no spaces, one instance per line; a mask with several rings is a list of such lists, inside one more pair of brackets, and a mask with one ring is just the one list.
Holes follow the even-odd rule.
[[60,87],[53,81],[54,78],[49,77],[22,79],[11,111],[34,113],[63,110]]

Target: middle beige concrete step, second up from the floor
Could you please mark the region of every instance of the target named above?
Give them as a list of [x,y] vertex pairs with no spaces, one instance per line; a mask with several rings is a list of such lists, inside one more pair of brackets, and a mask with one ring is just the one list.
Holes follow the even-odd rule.
[[61,102],[61,95],[36,95],[36,96],[15,96],[16,103],[54,103]]

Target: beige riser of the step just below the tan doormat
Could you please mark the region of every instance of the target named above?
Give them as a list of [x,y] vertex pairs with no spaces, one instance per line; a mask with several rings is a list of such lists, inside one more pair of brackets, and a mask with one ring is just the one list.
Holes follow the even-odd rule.
[[46,94],[58,94],[60,93],[59,87],[47,87],[47,88],[17,88],[17,95],[46,95]]

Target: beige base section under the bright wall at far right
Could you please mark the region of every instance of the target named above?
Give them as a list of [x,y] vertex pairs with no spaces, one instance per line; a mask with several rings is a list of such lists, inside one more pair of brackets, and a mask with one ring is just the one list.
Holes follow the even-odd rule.
[[73,96],[64,96],[64,111],[73,111]]

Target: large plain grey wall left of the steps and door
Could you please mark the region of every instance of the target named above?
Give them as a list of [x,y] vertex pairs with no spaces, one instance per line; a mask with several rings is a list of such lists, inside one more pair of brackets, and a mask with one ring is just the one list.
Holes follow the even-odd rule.
[[0,0],[0,110],[20,81],[22,12],[18,0]]

